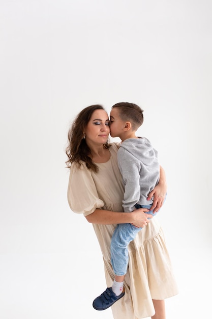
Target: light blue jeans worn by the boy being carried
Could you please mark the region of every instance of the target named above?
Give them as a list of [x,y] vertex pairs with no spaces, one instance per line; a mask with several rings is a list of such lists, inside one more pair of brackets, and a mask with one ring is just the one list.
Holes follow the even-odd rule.
[[[152,205],[138,205],[138,208],[148,208],[151,209]],[[157,213],[153,214],[153,210],[147,211],[147,214],[156,216]],[[110,252],[111,252],[111,263],[113,267],[113,272],[116,276],[123,276],[127,273],[128,267],[128,245],[132,242],[136,234],[142,228],[137,228],[132,224],[118,224],[114,230],[111,238]]]

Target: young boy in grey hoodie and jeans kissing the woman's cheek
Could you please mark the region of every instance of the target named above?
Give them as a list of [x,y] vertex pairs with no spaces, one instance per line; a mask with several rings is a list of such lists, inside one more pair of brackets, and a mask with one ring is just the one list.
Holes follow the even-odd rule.
[[[146,138],[135,135],[138,127],[143,123],[143,111],[137,104],[121,102],[113,105],[110,112],[110,135],[122,140],[118,150],[118,166],[122,173],[125,186],[123,208],[131,212],[136,208],[151,210],[153,199],[148,194],[155,188],[160,178],[158,152]],[[156,213],[154,214],[154,216]],[[134,240],[138,228],[132,224],[118,224],[111,238],[111,263],[114,271],[112,287],[93,302],[97,310],[109,308],[114,302],[122,298],[124,292],[124,278],[128,267],[128,245]]]

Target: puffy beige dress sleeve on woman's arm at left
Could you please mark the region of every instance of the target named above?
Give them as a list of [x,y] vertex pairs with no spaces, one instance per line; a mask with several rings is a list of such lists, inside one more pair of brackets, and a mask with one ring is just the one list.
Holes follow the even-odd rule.
[[92,172],[85,165],[71,165],[67,197],[71,210],[84,216],[104,206],[104,202],[98,197]]

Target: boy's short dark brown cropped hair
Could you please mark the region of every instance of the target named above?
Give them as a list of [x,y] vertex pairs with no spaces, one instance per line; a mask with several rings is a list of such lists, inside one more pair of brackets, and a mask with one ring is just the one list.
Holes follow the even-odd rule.
[[133,129],[138,129],[143,123],[143,110],[134,103],[120,102],[112,106],[112,109],[118,108],[119,116],[123,121],[129,121]]

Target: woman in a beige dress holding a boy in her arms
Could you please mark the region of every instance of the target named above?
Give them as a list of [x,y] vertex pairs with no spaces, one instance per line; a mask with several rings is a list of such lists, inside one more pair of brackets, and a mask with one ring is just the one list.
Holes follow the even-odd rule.
[[[107,286],[113,282],[110,240],[116,224],[132,223],[143,230],[129,245],[129,267],[125,276],[125,296],[113,304],[114,319],[152,316],[165,319],[164,299],[177,294],[163,231],[156,217],[148,220],[144,208],[123,212],[124,187],[117,164],[117,143],[108,143],[110,121],[101,105],[83,109],[69,130],[67,165],[70,167],[68,202],[70,208],[92,223],[104,260]],[[153,209],[162,206],[166,181],[149,194]]]

